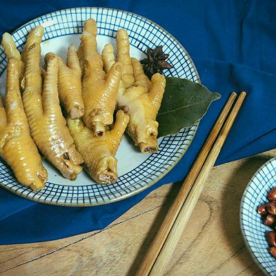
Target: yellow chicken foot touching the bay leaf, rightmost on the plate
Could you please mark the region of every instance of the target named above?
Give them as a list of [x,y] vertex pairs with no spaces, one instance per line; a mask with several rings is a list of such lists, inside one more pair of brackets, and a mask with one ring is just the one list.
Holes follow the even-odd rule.
[[[157,152],[157,113],[164,95],[166,79],[156,73],[152,79],[144,74],[137,59],[130,59],[128,33],[121,29],[117,33],[117,61],[123,67],[118,92],[119,109],[128,112],[130,122],[126,131],[139,146],[141,152]],[[113,48],[107,44],[102,52],[106,72],[115,63]]]

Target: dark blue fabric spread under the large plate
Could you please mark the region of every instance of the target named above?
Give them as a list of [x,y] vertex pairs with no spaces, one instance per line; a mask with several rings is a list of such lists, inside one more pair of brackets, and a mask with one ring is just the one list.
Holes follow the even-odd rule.
[[148,190],[105,206],[66,208],[23,199],[0,188],[0,244],[40,242],[104,228],[162,184],[183,179],[230,92],[248,97],[217,164],[276,147],[276,1],[0,1],[0,34],[63,8],[119,8],[155,21],[186,48],[204,83],[221,93],[188,152]]

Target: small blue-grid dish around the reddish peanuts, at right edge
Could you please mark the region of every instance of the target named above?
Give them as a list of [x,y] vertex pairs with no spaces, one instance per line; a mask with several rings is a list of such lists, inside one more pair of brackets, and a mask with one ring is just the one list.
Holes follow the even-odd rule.
[[268,191],[276,186],[276,158],[264,164],[250,180],[242,197],[240,223],[246,246],[266,275],[276,276],[276,259],[268,253],[266,231],[271,231],[257,213],[259,205],[268,202]]

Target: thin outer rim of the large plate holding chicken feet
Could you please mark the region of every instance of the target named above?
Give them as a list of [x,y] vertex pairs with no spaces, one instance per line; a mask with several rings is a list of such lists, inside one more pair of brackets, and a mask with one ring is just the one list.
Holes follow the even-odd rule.
[[[43,17],[48,17],[50,16],[50,14],[55,14],[56,12],[63,12],[63,11],[70,11],[70,10],[83,10],[83,9],[101,9],[101,10],[112,10],[112,11],[118,11],[118,12],[122,12],[124,14],[130,14],[130,15],[135,15],[136,17],[139,17],[140,19],[146,20],[152,24],[154,24],[155,26],[157,26],[157,28],[159,28],[161,31],[166,32],[168,35],[170,35],[170,37],[175,40],[175,42],[178,44],[179,48],[181,48],[181,50],[184,52],[184,54],[187,57],[187,60],[190,62],[190,66],[191,68],[193,68],[194,70],[194,74],[195,77],[197,79],[198,83],[201,83],[200,77],[199,77],[199,73],[197,72],[197,68],[195,66],[195,63],[193,61],[193,59],[190,57],[190,55],[188,54],[187,50],[184,48],[184,46],[182,46],[182,44],[172,35],[170,34],[170,32],[168,32],[167,30],[165,30],[162,26],[160,26],[158,23],[155,23],[154,21],[140,15],[137,14],[135,12],[129,12],[126,10],[121,10],[121,9],[117,9],[117,8],[103,8],[103,7],[96,7],[96,6],[84,6],[84,7],[75,7],[75,8],[66,8],[66,9],[61,9],[61,10],[55,10],[53,12],[49,12],[47,14],[42,14],[39,17],[36,17],[34,19],[31,19],[30,21],[24,23],[23,25],[19,26],[19,28],[17,28],[16,30],[14,30],[13,32],[11,32],[11,34],[14,34],[15,32],[17,32],[18,30],[20,30],[23,27],[29,26],[33,21],[39,20],[39,19],[43,19]],[[42,203],[42,204],[48,204],[48,205],[52,205],[52,206],[66,206],[66,207],[89,207],[89,206],[100,206],[100,205],[106,205],[106,204],[112,204],[114,202],[117,201],[122,201],[124,199],[127,199],[128,197],[132,197],[133,195],[137,195],[138,193],[143,192],[144,190],[150,188],[151,186],[153,186],[154,184],[157,183],[157,181],[161,180],[162,178],[164,178],[168,172],[170,172],[170,170],[172,170],[172,168],[175,168],[175,166],[179,163],[179,161],[182,159],[182,157],[184,157],[185,153],[187,152],[188,148],[190,148],[190,145],[193,143],[193,139],[195,138],[195,135],[197,134],[197,130],[199,127],[199,121],[197,121],[193,126],[191,126],[190,128],[195,128],[194,130],[194,135],[193,137],[190,138],[190,143],[188,144],[186,150],[182,150],[181,154],[179,155],[179,158],[174,162],[174,164],[172,164],[167,170],[166,172],[164,172],[164,174],[160,175],[159,177],[157,177],[154,181],[152,181],[152,183],[148,186],[143,186],[141,189],[139,190],[135,190],[131,193],[128,193],[122,197],[119,198],[114,198],[114,199],[109,199],[108,201],[100,201],[98,203],[69,203],[69,202],[59,202],[59,201],[44,201],[43,199],[37,199],[35,197],[28,197],[26,195],[23,195],[20,192],[17,192],[17,190],[13,190],[12,188],[6,186],[6,184],[3,184],[0,181],[0,186],[5,188],[6,190],[9,190],[10,192],[14,193],[15,195],[18,195],[19,197],[25,198],[25,199],[29,199],[31,201],[34,201],[35,203]]]

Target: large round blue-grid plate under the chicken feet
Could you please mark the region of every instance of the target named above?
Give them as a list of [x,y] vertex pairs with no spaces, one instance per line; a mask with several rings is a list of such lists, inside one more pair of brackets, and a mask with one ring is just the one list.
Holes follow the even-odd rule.
[[[82,32],[83,22],[90,18],[97,21],[100,52],[106,43],[116,46],[117,30],[125,28],[130,37],[132,57],[143,59],[146,57],[148,46],[155,48],[164,45],[164,52],[170,54],[168,61],[174,66],[174,69],[167,70],[167,76],[199,82],[195,65],[183,46],[156,23],[131,12],[107,8],[60,10],[26,23],[14,31],[12,37],[18,49],[22,50],[30,29],[42,25],[45,28],[41,43],[42,56],[47,52],[56,52],[65,58],[70,43],[79,46],[79,34]],[[5,94],[6,63],[3,48],[0,48],[1,95]],[[46,160],[43,161],[48,170],[45,189],[33,192],[30,188],[21,186],[3,161],[0,161],[0,185],[21,197],[47,204],[63,206],[108,204],[139,193],[164,177],[184,155],[196,130],[197,124],[181,130],[177,135],[159,139],[159,152],[152,155],[141,154],[125,135],[117,152],[119,180],[114,185],[96,184],[86,172],[81,172],[75,181],[69,181],[61,177]]]

